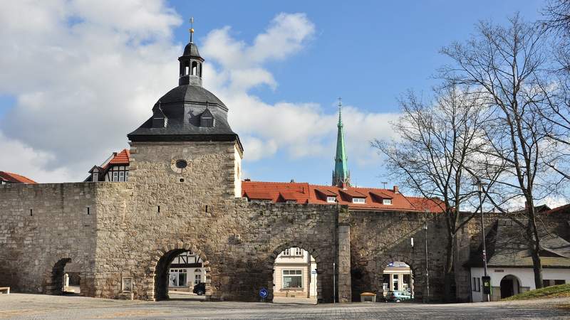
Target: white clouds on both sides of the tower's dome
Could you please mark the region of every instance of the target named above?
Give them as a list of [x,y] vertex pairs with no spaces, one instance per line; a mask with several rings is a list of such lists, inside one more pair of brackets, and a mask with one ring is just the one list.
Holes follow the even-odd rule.
[[[16,106],[0,117],[0,170],[40,182],[81,181],[93,164],[126,147],[126,134],[177,85],[185,43],[176,43],[172,30],[180,23],[165,1],[4,3],[0,94],[16,97]],[[276,87],[265,64],[304,50],[314,33],[306,15],[278,14],[252,44],[234,38],[229,26],[201,41],[204,87],[229,106],[248,160],[279,150],[292,159],[332,159],[336,114],[314,102],[271,105],[249,93]],[[368,141],[390,135],[395,115],[348,106],[343,119],[352,164],[366,164],[375,159]]]

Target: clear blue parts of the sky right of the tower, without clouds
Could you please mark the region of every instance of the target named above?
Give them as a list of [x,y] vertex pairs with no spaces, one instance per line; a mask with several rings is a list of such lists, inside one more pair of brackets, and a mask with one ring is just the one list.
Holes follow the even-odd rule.
[[[341,96],[362,110],[398,112],[397,97],[405,90],[429,95],[436,83],[432,75],[447,63],[438,53],[442,46],[465,41],[481,19],[501,23],[516,11],[537,19],[542,1],[287,1],[286,6],[279,1],[209,1],[207,6],[187,6],[187,1],[175,0],[170,4],[182,16],[195,16],[198,40],[204,31],[229,25],[234,36],[248,43],[279,12],[304,12],[316,26],[309,45],[286,61],[267,65],[279,85],[274,90],[258,87],[252,94],[269,103],[316,102],[326,112],[336,112],[336,97]],[[187,27],[175,34],[185,41]],[[246,150],[244,168],[261,181],[294,178],[330,183],[333,156],[333,145],[328,154],[308,159],[290,159],[279,151],[269,159],[247,161]],[[348,154],[353,183],[380,186],[386,181],[380,177],[384,173],[380,158],[358,166],[353,156]]]

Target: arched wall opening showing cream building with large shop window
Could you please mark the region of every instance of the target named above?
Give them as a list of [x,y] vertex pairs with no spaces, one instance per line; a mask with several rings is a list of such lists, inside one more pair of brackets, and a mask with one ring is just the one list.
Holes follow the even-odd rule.
[[273,302],[316,304],[318,274],[314,257],[301,247],[287,247],[273,264]]

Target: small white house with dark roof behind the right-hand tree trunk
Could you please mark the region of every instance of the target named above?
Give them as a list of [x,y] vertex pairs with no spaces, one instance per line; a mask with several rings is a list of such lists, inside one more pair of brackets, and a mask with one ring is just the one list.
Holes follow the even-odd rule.
[[[491,301],[536,289],[532,257],[522,228],[510,220],[499,220],[486,235],[487,274],[491,277]],[[554,234],[541,237],[542,285],[570,283],[570,242]],[[472,252],[470,262],[472,302],[487,301],[483,294],[482,247]]]

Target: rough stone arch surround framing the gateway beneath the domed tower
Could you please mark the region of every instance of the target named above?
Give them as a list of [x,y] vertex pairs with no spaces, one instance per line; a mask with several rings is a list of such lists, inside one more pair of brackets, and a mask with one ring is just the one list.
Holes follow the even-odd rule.
[[[198,255],[200,259],[202,259],[202,267],[204,267],[204,272],[205,272],[205,279],[204,279],[205,288],[206,288],[205,296],[207,300],[209,300],[210,297],[212,297],[212,294],[214,292],[212,290],[212,278],[210,273],[211,269],[209,267],[209,261],[207,260],[206,255],[202,250],[199,250],[195,245],[191,245],[190,243],[187,242],[177,242],[175,245],[172,244],[164,245],[162,247],[157,247],[157,249],[155,250],[155,255],[152,256],[152,259],[150,260],[150,265],[146,270],[147,279],[144,284],[144,292],[146,292],[147,300],[156,301],[160,299],[167,299],[167,294],[162,292],[163,288],[161,287],[162,285],[165,284],[162,284],[160,282],[157,283],[157,272],[162,271],[157,269],[160,269],[161,263],[163,262],[165,263],[165,265],[163,265],[162,267],[167,268],[168,265],[170,265],[170,262],[172,262],[172,259],[174,259],[174,257],[180,255],[180,253],[185,251],[192,251],[196,255]],[[170,262],[166,261],[165,259],[170,260]]]

